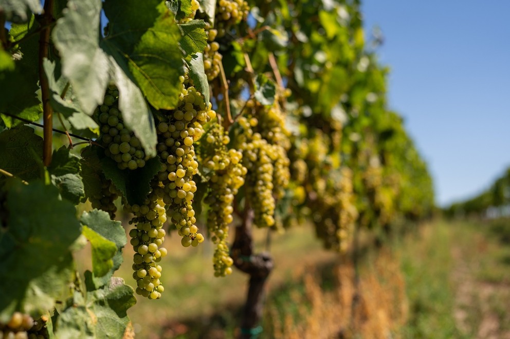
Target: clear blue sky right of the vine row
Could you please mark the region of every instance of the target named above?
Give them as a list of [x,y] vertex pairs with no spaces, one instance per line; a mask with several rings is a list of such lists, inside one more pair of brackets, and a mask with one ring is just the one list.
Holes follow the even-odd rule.
[[510,1],[361,0],[384,35],[389,106],[425,157],[436,202],[487,188],[510,166]]

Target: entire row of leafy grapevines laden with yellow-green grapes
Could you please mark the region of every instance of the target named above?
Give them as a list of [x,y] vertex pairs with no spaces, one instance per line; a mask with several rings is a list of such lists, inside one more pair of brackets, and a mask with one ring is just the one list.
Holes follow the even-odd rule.
[[[359,2],[64,3],[0,4],[0,337],[129,337],[134,294],[165,297],[171,234],[262,291],[252,226],[310,225],[348,253],[359,229],[431,213]],[[134,288],[115,276],[124,227]]]

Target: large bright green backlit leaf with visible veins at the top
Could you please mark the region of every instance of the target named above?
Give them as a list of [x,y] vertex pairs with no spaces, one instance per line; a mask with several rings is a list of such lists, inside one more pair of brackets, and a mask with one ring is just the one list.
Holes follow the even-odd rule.
[[152,106],[175,108],[184,64],[172,12],[159,0],[107,0],[104,11],[110,29],[101,46],[112,51],[126,73],[129,69]]

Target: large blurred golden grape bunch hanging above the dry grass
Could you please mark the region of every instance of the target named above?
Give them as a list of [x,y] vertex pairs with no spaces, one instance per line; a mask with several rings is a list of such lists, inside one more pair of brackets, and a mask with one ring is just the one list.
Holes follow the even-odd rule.
[[[309,133],[306,127],[301,129]],[[294,194],[297,205],[301,206],[294,216],[309,213],[324,246],[345,251],[351,243],[358,218],[353,173],[340,166],[339,153],[329,151],[331,135],[319,130],[309,134],[294,143],[289,151],[293,164],[292,182],[296,185]]]

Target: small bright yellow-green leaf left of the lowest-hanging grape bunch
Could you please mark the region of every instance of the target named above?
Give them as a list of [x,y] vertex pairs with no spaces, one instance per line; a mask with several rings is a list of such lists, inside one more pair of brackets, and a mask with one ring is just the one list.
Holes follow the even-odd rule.
[[105,275],[113,267],[112,257],[117,252],[117,247],[113,242],[87,226],[83,226],[82,233],[90,242],[90,247],[92,247],[92,268],[94,275]]

